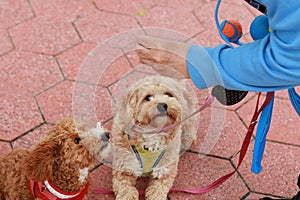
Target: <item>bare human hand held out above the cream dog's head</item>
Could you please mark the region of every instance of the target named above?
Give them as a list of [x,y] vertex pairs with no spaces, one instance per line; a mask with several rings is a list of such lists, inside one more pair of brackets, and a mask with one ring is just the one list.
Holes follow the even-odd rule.
[[137,51],[140,61],[152,66],[159,74],[178,78],[178,74],[174,75],[174,71],[168,69],[171,67],[183,78],[190,77],[186,56],[191,44],[150,36],[140,36],[138,44],[142,47]]

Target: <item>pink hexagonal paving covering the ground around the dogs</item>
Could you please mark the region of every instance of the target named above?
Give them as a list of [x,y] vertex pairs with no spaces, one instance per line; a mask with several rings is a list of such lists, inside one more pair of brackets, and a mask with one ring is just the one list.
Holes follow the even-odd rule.
[[[92,92],[95,117],[110,128],[113,94],[120,95],[120,88],[146,74],[133,51],[136,37],[147,33],[200,45],[220,44],[215,4],[215,0],[1,0],[0,153],[30,148],[53,123],[84,112],[78,99],[86,96],[76,93],[78,88],[86,95]],[[248,27],[257,14],[243,1],[223,1],[220,9],[221,19],[239,19],[244,42],[250,41]],[[207,91],[197,95],[201,103]],[[198,188],[236,167],[255,100],[256,94],[250,93],[237,106],[217,105],[203,112],[198,145],[181,157],[174,187]],[[224,129],[218,131],[209,155],[201,157],[208,127],[220,113],[223,123],[217,126]],[[299,122],[287,92],[277,92],[259,175],[250,171],[252,142],[238,173],[219,188],[202,195],[170,193],[169,199],[292,196],[300,172]],[[110,172],[105,165],[94,171],[95,187],[111,188]],[[140,181],[138,187],[143,186]],[[93,194],[91,199],[113,196]]]

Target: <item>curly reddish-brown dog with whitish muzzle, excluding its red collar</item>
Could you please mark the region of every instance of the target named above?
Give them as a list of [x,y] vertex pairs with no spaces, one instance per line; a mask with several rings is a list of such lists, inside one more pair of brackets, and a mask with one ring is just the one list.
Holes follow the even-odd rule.
[[[98,127],[99,128],[99,127]],[[102,132],[103,131],[103,132]],[[100,133],[99,133],[100,132]],[[66,192],[79,191],[90,177],[80,170],[93,167],[109,150],[104,129],[87,129],[63,119],[32,150],[13,150],[0,157],[0,199],[30,200],[28,180],[50,180]]]

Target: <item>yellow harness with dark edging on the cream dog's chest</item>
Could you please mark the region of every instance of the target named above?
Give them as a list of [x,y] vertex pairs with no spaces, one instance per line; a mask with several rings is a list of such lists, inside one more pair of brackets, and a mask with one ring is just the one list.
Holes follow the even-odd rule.
[[140,162],[141,168],[144,170],[144,174],[152,172],[152,169],[157,166],[165,154],[165,150],[152,152],[143,148],[136,148],[134,145],[131,145],[131,148]]

